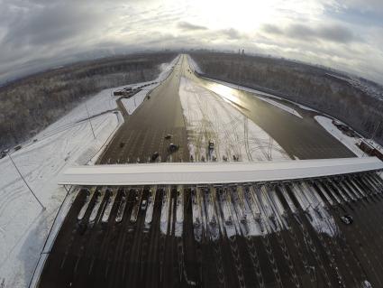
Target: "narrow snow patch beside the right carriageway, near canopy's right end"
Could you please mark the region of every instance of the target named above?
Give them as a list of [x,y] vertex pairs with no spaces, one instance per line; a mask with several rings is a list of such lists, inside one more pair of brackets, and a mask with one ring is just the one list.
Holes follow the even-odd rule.
[[367,153],[364,153],[357,144],[360,143],[360,138],[350,137],[342,133],[335,125],[333,125],[333,119],[325,116],[315,116],[316,122],[324,127],[328,133],[333,135],[336,139],[338,139],[342,144],[344,144],[347,148],[351,150],[358,157],[368,157]]

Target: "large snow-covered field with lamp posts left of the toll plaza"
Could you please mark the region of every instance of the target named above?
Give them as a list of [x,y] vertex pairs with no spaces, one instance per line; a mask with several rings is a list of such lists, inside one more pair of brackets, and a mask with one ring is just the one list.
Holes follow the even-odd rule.
[[[42,210],[23,183],[8,157],[0,160],[0,283],[25,287],[39,259],[53,219],[66,191],[58,186],[59,175],[68,166],[85,164],[99,153],[123,119],[113,112],[111,90],[105,89],[74,108],[12,154],[25,180],[46,207]],[[94,139],[87,108],[95,130]],[[65,218],[66,209],[59,219]],[[58,229],[58,228],[57,228]]]

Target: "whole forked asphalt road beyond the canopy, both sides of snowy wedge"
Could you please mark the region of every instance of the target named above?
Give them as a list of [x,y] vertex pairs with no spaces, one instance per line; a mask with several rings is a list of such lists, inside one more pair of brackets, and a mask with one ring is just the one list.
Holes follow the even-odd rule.
[[[159,152],[160,162],[188,162],[187,130],[178,96],[181,77],[187,77],[205,88],[220,85],[198,78],[187,60],[181,55],[168,79],[150,92],[132,116],[124,114],[125,122],[108,145],[99,163],[147,163],[153,153]],[[346,146],[317,124],[315,113],[294,107],[302,116],[298,118],[269,105],[251,93],[227,88],[242,114],[259,125],[295,159],[343,158],[354,156]],[[284,103],[285,105],[290,105]],[[123,109],[119,105],[120,109]],[[172,139],[165,139],[166,135]],[[214,139],[212,139],[214,141]],[[178,144],[179,150],[169,152],[169,144]]]

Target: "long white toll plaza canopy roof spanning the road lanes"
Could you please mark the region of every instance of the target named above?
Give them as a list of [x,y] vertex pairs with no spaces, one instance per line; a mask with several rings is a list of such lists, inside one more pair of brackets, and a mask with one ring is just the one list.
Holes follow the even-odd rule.
[[257,163],[146,163],[68,168],[59,185],[213,184],[286,181],[383,170],[376,157]]

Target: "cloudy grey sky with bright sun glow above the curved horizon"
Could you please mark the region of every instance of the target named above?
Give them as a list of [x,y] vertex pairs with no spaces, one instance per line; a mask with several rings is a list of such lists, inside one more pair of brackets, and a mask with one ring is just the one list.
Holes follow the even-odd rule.
[[383,0],[0,0],[0,7],[0,81],[123,51],[244,48],[383,84]]

